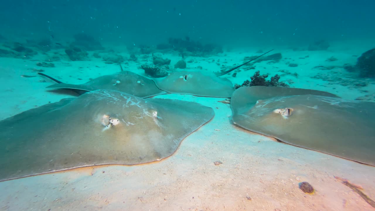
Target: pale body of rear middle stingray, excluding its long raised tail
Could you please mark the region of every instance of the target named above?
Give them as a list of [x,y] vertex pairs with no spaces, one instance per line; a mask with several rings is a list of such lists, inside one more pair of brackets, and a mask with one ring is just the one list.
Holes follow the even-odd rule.
[[167,77],[155,80],[159,89],[175,94],[229,98],[234,87],[226,78],[198,71],[172,72]]

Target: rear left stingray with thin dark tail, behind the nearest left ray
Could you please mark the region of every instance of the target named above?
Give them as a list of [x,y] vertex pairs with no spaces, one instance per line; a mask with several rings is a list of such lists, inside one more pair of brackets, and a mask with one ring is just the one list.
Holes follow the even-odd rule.
[[117,90],[141,98],[147,98],[150,96],[166,93],[157,88],[154,81],[129,71],[123,71],[121,73],[113,75],[104,75],[84,84],[62,83],[61,81],[58,81],[48,75],[42,73],[39,74],[51,78],[52,80],[57,82],[57,84],[48,86],[47,88],[72,89],[75,90],[75,92],[77,92],[78,94],[90,92],[97,89]]

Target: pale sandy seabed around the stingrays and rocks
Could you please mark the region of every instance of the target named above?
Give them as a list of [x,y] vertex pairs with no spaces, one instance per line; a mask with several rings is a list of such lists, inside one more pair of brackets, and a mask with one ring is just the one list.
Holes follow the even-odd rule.
[[[270,73],[270,78],[274,74],[283,74],[279,71],[285,69],[298,73],[298,78],[293,75],[281,77],[281,81],[294,81],[291,87],[328,91],[348,99],[375,94],[373,80],[368,80],[366,87],[353,87],[311,78],[317,74],[350,78],[342,68],[312,68],[354,64],[357,57],[353,54],[360,55],[362,49],[355,52],[275,50],[273,53],[278,52],[291,59],[276,64],[257,63],[255,70],[240,71],[236,78],[226,77],[241,84],[257,70],[261,74]],[[220,59],[220,65],[228,65],[229,69],[253,53],[225,53],[226,57],[188,57],[186,60],[195,61],[187,63],[188,68],[202,66],[202,71],[219,71],[217,59]],[[308,58],[299,59],[307,55]],[[331,56],[338,60],[327,62]],[[172,59],[172,65],[180,59],[171,55],[164,57]],[[46,56],[36,59],[43,61]],[[215,62],[211,62],[213,59]],[[223,63],[225,59],[228,63]],[[288,67],[287,61],[299,66]],[[68,83],[85,83],[89,78],[119,71],[117,65],[107,65],[99,59],[54,62],[55,68],[40,68],[36,66],[37,62],[0,58],[0,119],[72,97],[67,92],[47,92],[45,87],[54,84],[49,79],[20,77],[36,74],[29,68],[44,69],[43,73],[60,76],[59,80]],[[126,70],[142,74],[138,66],[139,63],[135,62],[124,65]],[[39,82],[42,80],[46,82]],[[375,199],[374,167],[278,143],[242,130],[231,124],[229,104],[217,102],[223,98],[174,94],[156,97],[199,102],[213,107],[215,117],[186,137],[174,155],[159,162],[88,167],[0,182],[0,210],[375,210],[357,193],[333,178],[339,176],[362,185],[363,192]],[[222,164],[215,166],[214,161]],[[303,193],[298,187],[302,181],[309,182],[316,193]]]

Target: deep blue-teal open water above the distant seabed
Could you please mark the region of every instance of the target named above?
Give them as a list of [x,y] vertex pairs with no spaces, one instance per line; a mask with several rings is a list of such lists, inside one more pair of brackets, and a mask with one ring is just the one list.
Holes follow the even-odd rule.
[[18,0],[2,1],[7,38],[158,44],[169,37],[223,45],[300,45],[375,37],[373,0]]

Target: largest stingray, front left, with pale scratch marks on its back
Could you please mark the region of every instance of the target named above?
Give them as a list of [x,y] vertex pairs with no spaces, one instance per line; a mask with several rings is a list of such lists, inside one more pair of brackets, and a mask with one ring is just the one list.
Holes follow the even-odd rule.
[[0,181],[157,161],[213,116],[213,109],[195,102],[143,99],[115,90],[43,105],[0,121]]

